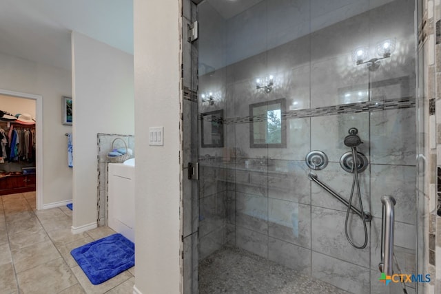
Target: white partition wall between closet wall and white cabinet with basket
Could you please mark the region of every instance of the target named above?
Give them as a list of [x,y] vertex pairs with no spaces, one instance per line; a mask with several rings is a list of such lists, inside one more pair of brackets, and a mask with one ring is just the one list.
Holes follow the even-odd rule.
[[72,231],[96,225],[97,134],[134,134],[133,56],[72,32]]

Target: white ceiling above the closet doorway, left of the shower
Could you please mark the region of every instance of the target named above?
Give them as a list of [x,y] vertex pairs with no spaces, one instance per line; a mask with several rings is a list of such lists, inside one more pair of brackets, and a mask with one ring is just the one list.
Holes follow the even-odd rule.
[[133,54],[132,0],[0,0],[0,52],[71,69],[70,32]]

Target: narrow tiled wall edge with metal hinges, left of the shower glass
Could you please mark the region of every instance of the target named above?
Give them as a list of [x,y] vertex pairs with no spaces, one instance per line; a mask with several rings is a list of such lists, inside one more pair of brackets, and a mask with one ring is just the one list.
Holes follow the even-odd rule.
[[[196,4],[183,0],[182,88],[183,88],[183,293],[198,293],[198,77]],[[197,2],[197,1],[196,1]],[[196,25],[196,27],[195,27]]]

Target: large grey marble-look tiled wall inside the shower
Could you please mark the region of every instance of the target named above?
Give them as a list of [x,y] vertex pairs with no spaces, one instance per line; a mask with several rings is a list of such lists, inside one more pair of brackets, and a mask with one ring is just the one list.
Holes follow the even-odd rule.
[[[398,263],[402,273],[416,273],[413,9],[413,1],[391,1],[200,77],[199,92],[218,98],[214,105],[200,102],[200,112],[223,109],[225,116],[225,147],[200,149],[201,258],[229,244],[353,293],[384,293],[380,198],[391,195]],[[377,71],[351,61],[356,45],[374,48],[390,36],[396,53]],[[269,74],[274,89],[256,90],[256,77]],[[370,99],[363,94],[369,91]],[[278,98],[287,100],[287,148],[250,148],[249,105]],[[343,139],[351,127],[358,128],[364,142],[358,150],[370,164],[360,174],[363,205],[373,214],[362,250],[346,240],[345,206],[308,180],[305,165],[309,151],[325,152],[329,165],[316,171],[318,178],[349,198],[352,175],[339,160],[350,150]],[[358,218],[350,232],[361,244]],[[413,293],[414,284],[407,286]],[[387,291],[394,287],[400,285]]]

